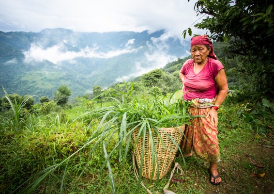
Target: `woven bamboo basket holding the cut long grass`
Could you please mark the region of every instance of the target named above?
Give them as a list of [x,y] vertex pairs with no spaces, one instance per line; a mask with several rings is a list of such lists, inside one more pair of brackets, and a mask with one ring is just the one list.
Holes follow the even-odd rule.
[[[162,128],[170,137],[174,139],[174,141],[180,145],[180,142],[183,138],[184,125],[181,127],[175,128]],[[180,129],[181,128],[181,129]],[[153,132],[153,140],[156,147],[156,153],[158,157],[159,164],[159,179],[163,178],[173,162],[175,154],[178,150],[178,147],[170,140],[170,138],[163,131],[159,130],[159,133],[162,137],[161,141],[156,132]],[[136,141],[138,135],[138,129],[135,129],[132,133],[133,141]],[[164,144],[163,144],[164,143]],[[137,140],[137,144],[134,147],[134,153],[136,156],[137,166],[140,168],[141,156],[142,156],[142,146],[143,146],[143,137],[139,137]],[[155,169],[153,171],[152,164],[152,152],[151,152],[151,140],[149,138],[148,133],[146,134],[145,147],[144,147],[144,160],[143,160],[143,169],[142,169],[142,177],[149,178],[152,180],[157,179],[157,164],[155,159]]]

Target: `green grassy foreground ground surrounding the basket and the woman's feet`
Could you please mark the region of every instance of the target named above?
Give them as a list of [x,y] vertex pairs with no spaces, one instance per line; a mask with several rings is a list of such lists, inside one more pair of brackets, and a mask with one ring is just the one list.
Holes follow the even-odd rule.
[[[180,93],[178,91],[175,96],[180,97]],[[177,194],[274,191],[274,104],[266,99],[256,104],[237,103],[234,95],[229,96],[218,111],[222,155],[219,171],[223,183],[213,187],[208,179],[208,165],[196,156],[185,159],[184,164],[178,152],[176,162],[183,167],[184,174],[174,175],[169,190]],[[133,171],[132,146],[128,145],[122,166],[121,153],[113,149],[118,136],[109,140],[105,147],[107,153],[112,152],[108,164],[101,145],[92,149],[91,135],[99,120],[96,124],[86,111],[96,109],[100,103],[89,101],[74,109],[61,109],[61,112],[32,110],[31,114],[22,114],[27,111],[25,102],[22,98],[18,103],[11,103],[9,116],[1,114],[1,193],[108,194],[113,192],[113,182],[116,193],[136,193],[138,180]],[[103,105],[111,104],[104,102]],[[153,193],[162,193],[170,172],[171,169],[158,183],[142,180]],[[146,193],[146,190],[140,187],[139,193]]]

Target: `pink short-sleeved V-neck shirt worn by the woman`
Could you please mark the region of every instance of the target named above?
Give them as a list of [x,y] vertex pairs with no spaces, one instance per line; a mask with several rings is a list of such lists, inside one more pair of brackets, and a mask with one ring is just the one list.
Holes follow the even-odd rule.
[[224,68],[224,65],[218,60],[208,58],[208,62],[198,74],[194,73],[193,65],[194,60],[189,59],[183,64],[180,71],[185,75],[183,99],[215,97],[218,85],[214,79],[219,70]]

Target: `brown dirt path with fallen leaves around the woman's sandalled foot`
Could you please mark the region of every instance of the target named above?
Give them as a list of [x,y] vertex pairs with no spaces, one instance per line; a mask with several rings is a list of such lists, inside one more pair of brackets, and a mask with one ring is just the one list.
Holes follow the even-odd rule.
[[194,184],[204,194],[274,194],[274,148],[265,143],[248,142],[225,152],[218,167],[223,182],[218,186],[209,183],[208,163],[196,156],[187,159],[184,178],[189,181],[183,186],[193,188]]

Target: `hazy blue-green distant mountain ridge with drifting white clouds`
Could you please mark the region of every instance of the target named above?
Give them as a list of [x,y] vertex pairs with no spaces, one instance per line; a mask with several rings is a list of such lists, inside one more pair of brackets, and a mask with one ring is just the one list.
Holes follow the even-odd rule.
[[[8,93],[72,97],[108,87],[189,55],[189,42],[164,30],[143,32],[0,31],[0,85]],[[0,91],[3,95],[3,91]]]

